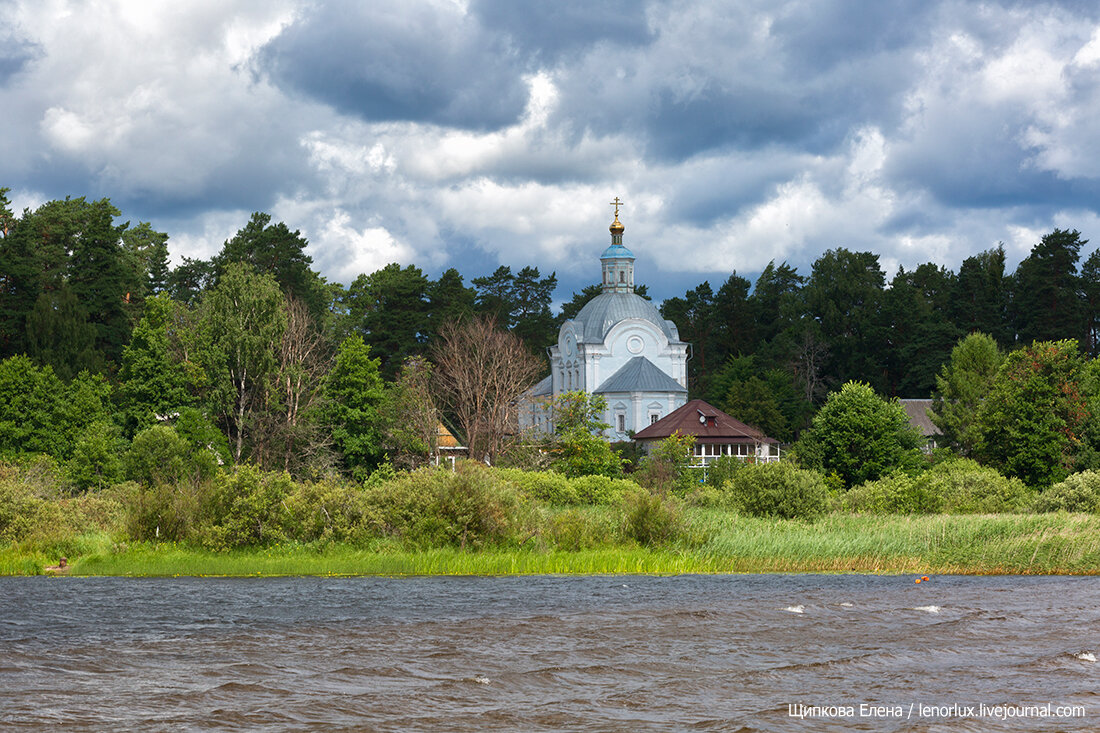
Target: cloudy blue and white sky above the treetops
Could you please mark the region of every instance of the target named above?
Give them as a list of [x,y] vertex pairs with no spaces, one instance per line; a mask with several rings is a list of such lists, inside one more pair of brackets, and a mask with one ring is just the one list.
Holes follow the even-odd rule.
[[[109,197],[208,258],[266,211],[350,283],[658,299],[826,250],[1009,267],[1100,243],[1094,2],[0,0],[0,187]],[[1091,252],[1090,243],[1084,253]]]

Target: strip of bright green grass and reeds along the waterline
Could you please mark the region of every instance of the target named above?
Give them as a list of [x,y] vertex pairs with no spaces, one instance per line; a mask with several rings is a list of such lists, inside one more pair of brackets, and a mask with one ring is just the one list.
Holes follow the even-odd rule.
[[[531,547],[464,551],[280,545],[215,553],[174,544],[78,538],[72,575],[530,575],[686,572],[1100,573],[1100,516],[1088,514],[849,515],[816,522],[693,511],[693,541],[579,551]],[[56,557],[0,551],[0,573],[43,572]]]

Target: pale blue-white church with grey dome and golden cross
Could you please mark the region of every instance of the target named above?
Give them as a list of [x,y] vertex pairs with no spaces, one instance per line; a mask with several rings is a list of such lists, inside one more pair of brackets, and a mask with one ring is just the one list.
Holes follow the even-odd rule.
[[549,349],[550,375],[520,403],[521,429],[552,431],[550,403],[563,392],[603,395],[609,440],[628,440],[688,402],[688,344],[634,292],[635,258],[623,247],[619,204],[616,198],[612,244],[600,256],[603,292],[562,324]]

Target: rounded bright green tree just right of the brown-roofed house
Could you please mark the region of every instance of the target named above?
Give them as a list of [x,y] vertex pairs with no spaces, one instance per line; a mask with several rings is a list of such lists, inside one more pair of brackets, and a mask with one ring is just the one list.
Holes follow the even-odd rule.
[[846,486],[921,464],[924,438],[909,424],[905,409],[861,382],[847,382],[829,394],[795,445],[799,460]]

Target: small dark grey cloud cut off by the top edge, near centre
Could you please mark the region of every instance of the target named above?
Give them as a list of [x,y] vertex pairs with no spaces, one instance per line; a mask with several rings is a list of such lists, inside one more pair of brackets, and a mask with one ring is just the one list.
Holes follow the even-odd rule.
[[470,11],[486,29],[507,34],[525,55],[551,65],[601,41],[638,46],[656,37],[645,3],[635,0],[474,0]]

